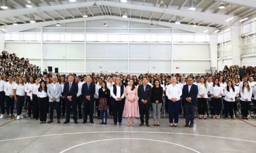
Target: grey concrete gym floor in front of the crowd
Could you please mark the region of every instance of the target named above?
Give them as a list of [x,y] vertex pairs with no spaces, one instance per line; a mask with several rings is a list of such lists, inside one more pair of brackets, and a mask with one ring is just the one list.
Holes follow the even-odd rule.
[[[168,119],[160,120],[161,126],[121,126],[54,123],[39,121],[0,119],[0,152],[255,152],[256,119],[225,120],[196,119],[193,128],[184,127],[180,119],[178,127],[169,127]],[[4,124],[4,125],[3,125]]]

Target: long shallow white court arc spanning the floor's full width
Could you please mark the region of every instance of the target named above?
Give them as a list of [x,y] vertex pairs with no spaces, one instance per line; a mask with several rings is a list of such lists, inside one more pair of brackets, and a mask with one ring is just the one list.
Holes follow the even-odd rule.
[[220,138],[220,139],[229,139],[229,140],[237,140],[237,141],[245,141],[245,142],[253,142],[253,143],[256,143],[256,141],[251,141],[251,140],[243,140],[243,139],[228,138],[228,137],[218,137],[218,136],[209,136],[209,135],[197,135],[197,134],[186,134],[186,133],[172,133],[172,132],[140,132],[140,131],[107,131],[107,132],[105,132],[105,131],[98,131],[98,132],[62,133],[62,134],[51,134],[51,135],[41,135],[41,136],[32,136],[32,137],[15,138],[15,139],[6,139],[6,140],[0,140],[0,142],[12,141],[12,140],[20,140],[20,139],[29,139],[29,138],[38,138],[38,137],[73,135],[73,134],[92,134],[92,133],[153,133],[153,134],[176,134],[176,135],[201,136],[201,137]]

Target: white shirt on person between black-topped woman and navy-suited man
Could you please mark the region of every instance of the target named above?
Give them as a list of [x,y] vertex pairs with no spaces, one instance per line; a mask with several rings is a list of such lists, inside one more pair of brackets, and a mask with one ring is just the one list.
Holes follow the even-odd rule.
[[181,87],[178,84],[169,84],[166,89],[166,96],[168,99],[176,98],[177,101],[180,100],[180,96],[182,95]]

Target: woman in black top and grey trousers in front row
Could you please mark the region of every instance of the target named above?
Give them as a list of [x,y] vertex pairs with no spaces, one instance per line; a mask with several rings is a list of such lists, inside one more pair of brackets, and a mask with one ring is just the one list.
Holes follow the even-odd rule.
[[[163,84],[164,85],[164,84]],[[165,88],[164,88],[165,89]],[[155,80],[154,86],[152,88],[152,108],[153,108],[153,119],[154,126],[160,126],[159,120],[161,115],[161,108],[163,104],[163,87],[160,85],[159,80]]]

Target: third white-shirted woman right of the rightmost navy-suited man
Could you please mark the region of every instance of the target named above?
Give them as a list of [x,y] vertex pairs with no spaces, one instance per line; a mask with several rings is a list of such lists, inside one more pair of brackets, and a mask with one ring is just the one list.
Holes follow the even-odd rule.
[[227,82],[227,87],[225,88],[224,93],[225,93],[225,97],[224,97],[225,119],[228,119],[228,112],[229,112],[230,117],[232,119],[234,119],[233,107],[234,107],[234,103],[236,103],[237,91],[236,91],[236,89],[234,89],[232,82],[230,80]]

